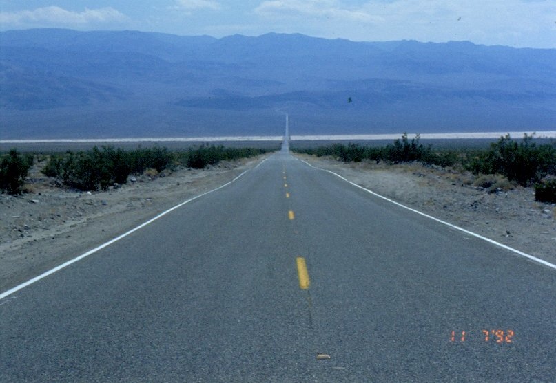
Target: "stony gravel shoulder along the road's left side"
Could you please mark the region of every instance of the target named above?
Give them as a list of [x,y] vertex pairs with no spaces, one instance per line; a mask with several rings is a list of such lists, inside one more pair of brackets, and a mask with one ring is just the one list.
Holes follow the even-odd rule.
[[0,195],[0,292],[231,181],[268,155],[203,170],[145,173],[98,193],[62,188],[35,164],[27,186],[32,193]]

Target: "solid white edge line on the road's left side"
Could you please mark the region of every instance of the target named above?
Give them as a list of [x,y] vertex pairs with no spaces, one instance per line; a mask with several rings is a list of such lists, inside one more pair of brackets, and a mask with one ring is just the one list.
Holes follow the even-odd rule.
[[[265,162],[267,160],[267,158],[265,158],[265,160],[262,160],[262,162]],[[262,164],[262,162],[260,162],[260,164]],[[260,164],[258,164],[256,167],[260,166]],[[95,252],[98,252],[99,250],[102,250],[103,248],[106,248],[107,246],[112,245],[112,243],[119,241],[120,239],[123,239],[125,237],[127,237],[128,235],[132,234],[132,232],[136,232],[137,230],[144,228],[145,226],[149,225],[150,223],[156,221],[157,219],[167,215],[169,212],[171,212],[172,210],[176,210],[177,208],[181,208],[181,206],[185,205],[185,204],[189,204],[189,202],[194,201],[195,199],[198,199],[200,197],[203,197],[204,195],[207,195],[209,193],[212,193],[216,190],[219,190],[221,188],[224,188],[225,186],[228,186],[229,184],[231,184],[232,182],[236,181],[236,179],[238,179],[239,177],[241,177],[242,175],[244,175],[245,173],[247,173],[250,169],[247,169],[246,171],[244,171],[243,173],[241,173],[240,175],[238,175],[236,178],[232,179],[231,181],[218,186],[218,188],[214,188],[212,190],[209,190],[203,194],[197,195],[195,197],[189,198],[187,199],[187,201],[183,201],[181,204],[178,204],[172,208],[169,208],[168,210],[166,210],[165,212],[161,212],[159,215],[157,215],[156,217],[149,219],[148,221],[146,221],[145,223],[141,223],[141,225],[137,226],[136,228],[133,228],[132,230],[125,232],[123,234],[121,234],[119,237],[116,237],[114,239],[111,239],[110,241],[107,241],[106,243],[103,243],[102,245],[89,250],[88,252],[85,252],[84,254],[81,254],[79,256],[76,256],[74,259],[70,259],[70,261],[67,261],[65,263],[62,263],[59,266],[54,267],[51,270],[48,270],[47,272],[43,272],[43,274],[39,275],[39,276],[35,276],[34,278],[31,278],[29,281],[21,283],[21,285],[17,285],[16,287],[13,287],[12,289],[9,289],[6,292],[3,292],[2,294],[0,294],[0,300],[3,298],[6,298],[6,296],[10,296],[12,294],[14,294],[14,292],[18,292],[19,290],[23,289],[24,287],[27,287],[28,285],[32,285],[33,283],[40,281],[43,278],[46,278],[47,276],[49,276],[50,274],[54,274],[55,272],[62,270],[64,267],[68,267],[69,265],[71,265],[72,263],[76,263],[77,261],[81,261],[81,259],[85,258],[86,256],[90,256],[91,254],[94,254]]]

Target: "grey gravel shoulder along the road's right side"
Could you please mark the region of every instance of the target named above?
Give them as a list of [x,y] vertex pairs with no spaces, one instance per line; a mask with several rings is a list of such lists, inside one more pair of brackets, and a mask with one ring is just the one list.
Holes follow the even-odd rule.
[[556,205],[535,201],[533,188],[488,193],[473,186],[474,175],[451,168],[295,155],[400,204],[556,264]]

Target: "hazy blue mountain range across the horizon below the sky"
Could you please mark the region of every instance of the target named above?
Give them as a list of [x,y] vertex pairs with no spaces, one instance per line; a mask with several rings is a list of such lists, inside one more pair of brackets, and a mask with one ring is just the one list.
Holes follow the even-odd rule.
[[556,130],[556,50],[0,32],[0,139]]

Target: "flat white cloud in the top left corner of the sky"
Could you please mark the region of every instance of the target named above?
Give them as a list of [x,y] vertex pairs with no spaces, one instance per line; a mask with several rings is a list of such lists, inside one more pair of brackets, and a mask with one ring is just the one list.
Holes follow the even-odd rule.
[[22,10],[19,12],[0,12],[0,24],[26,25],[26,24],[63,24],[83,25],[88,23],[112,23],[127,21],[128,18],[112,7],[72,12],[60,7],[50,6],[35,10]]

